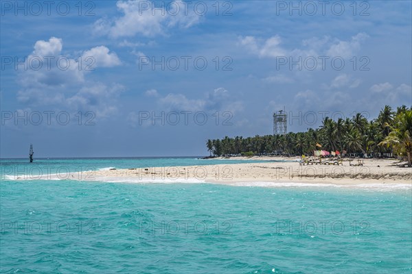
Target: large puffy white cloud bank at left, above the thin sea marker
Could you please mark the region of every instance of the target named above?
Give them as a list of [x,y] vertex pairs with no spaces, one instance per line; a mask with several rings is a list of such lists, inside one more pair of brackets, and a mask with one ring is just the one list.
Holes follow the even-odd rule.
[[[93,69],[117,66],[121,62],[116,53],[99,46],[86,50],[79,58],[62,55],[63,41],[51,37],[38,40],[27,57],[25,68],[19,67],[20,89],[17,99],[27,105],[92,110],[107,116],[115,110],[114,99],[123,90],[119,84],[103,84],[88,79]],[[92,58],[91,63],[87,58]],[[38,62],[42,66],[38,67]],[[88,68],[89,65],[93,67]]]

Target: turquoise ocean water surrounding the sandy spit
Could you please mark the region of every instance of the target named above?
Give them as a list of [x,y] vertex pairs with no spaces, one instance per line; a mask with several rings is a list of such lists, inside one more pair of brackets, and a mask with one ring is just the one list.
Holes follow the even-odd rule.
[[[235,163],[222,160],[220,164]],[[1,160],[1,273],[411,273],[411,188],[16,180],[194,158]]]

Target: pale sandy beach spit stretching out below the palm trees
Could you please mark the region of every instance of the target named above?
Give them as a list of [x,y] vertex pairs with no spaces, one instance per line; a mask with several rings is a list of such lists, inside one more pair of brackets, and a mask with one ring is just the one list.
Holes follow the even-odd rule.
[[[223,158],[225,160],[227,158]],[[216,159],[219,160],[219,159]],[[246,158],[245,160],[251,160]],[[266,160],[256,158],[256,160]],[[394,166],[393,160],[364,160],[363,166],[301,166],[296,158],[286,162],[163,166],[146,169],[115,169],[93,173],[97,181],[131,183],[211,183],[229,186],[385,186],[412,187],[412,169]],[[280,159],[275,159],[279,161]],[[294,161],[295,160],[295,161]]]

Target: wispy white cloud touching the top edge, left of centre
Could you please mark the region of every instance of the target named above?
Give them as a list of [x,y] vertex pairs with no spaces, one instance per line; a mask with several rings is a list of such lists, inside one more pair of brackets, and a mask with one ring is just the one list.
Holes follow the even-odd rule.
[[152,37],[165,34],[171,27],[187,28],[200,21],[200,16],[180,0],[160,8],[151,1],[117,1],[116,6],[123,15],[98,19],[94,23],[95,33],[112,38],[136,34]]

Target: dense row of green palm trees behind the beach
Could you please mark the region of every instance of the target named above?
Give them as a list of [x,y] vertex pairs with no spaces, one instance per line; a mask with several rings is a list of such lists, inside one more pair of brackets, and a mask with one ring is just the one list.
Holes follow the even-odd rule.
[[282,154],[312,155],[317,144],[327,151],[347,151],[358,155],[380,156],[396,153],[407,156],[411,164],[412,110],[405,105],[393,111],[389,105],[380,110],[378,118],[367,121],[357,113],[352,119],[334,121],[323,119],[317,129],[307,132],[289,132],[284,135],[266,135],[243,138],[236,136],[207,140],[210,155]]

